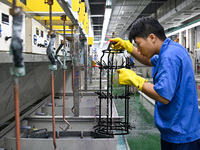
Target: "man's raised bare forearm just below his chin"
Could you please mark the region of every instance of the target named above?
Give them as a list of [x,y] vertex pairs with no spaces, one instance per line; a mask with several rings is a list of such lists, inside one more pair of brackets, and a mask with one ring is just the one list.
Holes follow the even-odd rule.
[[146,65],[146,66],[153,66],[151,64],[151,59],[150,58],[147,58],[147,57],[144,57],[140,54],[140,52],[138,52],[137,48],[136,47],[133,47],[133,51],[131,53],[131,55],[137,59],[140,63]]

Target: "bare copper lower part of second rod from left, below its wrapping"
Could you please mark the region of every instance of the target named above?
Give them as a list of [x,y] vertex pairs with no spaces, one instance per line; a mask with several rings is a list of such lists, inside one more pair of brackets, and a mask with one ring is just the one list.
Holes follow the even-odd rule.
[[54,145],[54,150],[56,150],[55,103],[54,103],[54,76],[53,76],[53,71],[51,71],[51,98],[52,98],[53,145]]

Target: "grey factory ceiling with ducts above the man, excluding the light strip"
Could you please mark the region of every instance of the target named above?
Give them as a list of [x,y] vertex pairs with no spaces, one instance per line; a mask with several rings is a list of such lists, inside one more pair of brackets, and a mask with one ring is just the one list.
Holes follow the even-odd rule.
[[[94,41],[101,41],[106,1],[111,1],[112,13],[106,35],[124,38],[131,24],[140,17],[152,16],[159,20],[166,31],[200,17],[199,0],[85,0],[89,3]],[[194,19],[193,19],[194,20]],[[107,41],[107,36],[105,41]]]

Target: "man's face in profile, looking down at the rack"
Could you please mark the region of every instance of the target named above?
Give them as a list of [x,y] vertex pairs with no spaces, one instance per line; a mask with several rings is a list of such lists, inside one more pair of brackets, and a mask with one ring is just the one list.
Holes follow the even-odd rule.
[[141,55],[147,58],[151,58],[154,55],[154,43],[149,36],[146,39],[142,37],[135,37],[134,41],[137,44],[138,51]]

